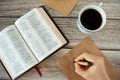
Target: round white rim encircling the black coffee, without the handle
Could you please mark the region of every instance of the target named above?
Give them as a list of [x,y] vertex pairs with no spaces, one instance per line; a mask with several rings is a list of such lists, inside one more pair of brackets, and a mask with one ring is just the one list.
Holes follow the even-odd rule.
[[[80,21],[80,20],[81,20],[80,17],[81,17],[81,15],[82,15],[82,13],[83,13],[84,11],[88,10],[88,9],[94,9],[94,10],[96,10],[96,11],[101,15],[101,17],[102,17],[102,23],[101,23],[101,25],[100,25],[100,27],[99,27],[98,29],[89,30],[89,29],[85,28],[85,27],[82,25],[82,23],[81,23],[81,21]],[[79,24],[80,24],[80,26],[78,26],[78,27],[82,27],[82,29],[84,29],[85,31],[87,31],[87,32],[96,32],[96,31],[101,30],[101,29],[105,26],[105,23],[106,23],[106,14],[105,14],[104,10],[103,10],[101,7],[99,7],[99,6],[96,6],[96,5],[88,5],[88,6],[85,6],[84,8],[82,8],[81,11],[79,12],[78,22],[79,22]]]

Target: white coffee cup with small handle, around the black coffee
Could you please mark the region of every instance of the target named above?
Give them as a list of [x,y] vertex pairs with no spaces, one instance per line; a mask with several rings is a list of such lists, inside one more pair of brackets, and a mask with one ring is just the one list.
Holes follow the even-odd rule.
[[[81,9],[81,11],[79,12],[78,20],[77,20],[77,25],[78,25],[78,28],[79,28],[80,31],[82,31],[83,33],[86,33],[86,34],[90,34],[90,33],[101,30],[105,26],[106,14],[105,14],[104,10],[101,8],[101,6],[102,6],[102,3],[100,3],[99,6],[88,5],[88,6],[85,6],[84,8]],[[93,10],[97,11],[101,16],[101,24],[95,30],[87,29],[81,22],[82,14],[89,9],[93,9]]]

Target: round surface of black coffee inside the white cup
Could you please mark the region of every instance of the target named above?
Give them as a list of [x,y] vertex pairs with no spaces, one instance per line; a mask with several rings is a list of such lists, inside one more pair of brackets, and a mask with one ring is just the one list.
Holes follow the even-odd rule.
[[102,18],[99,12],[94,9],[88,9],[81,15],[82,25],[89,30],[96,30],[101,26]]

